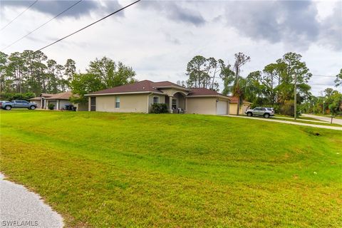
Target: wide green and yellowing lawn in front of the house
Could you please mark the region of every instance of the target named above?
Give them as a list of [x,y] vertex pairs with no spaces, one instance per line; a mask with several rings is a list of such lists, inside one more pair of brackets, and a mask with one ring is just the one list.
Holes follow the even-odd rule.
[[342,227],[342,132],[209,115],[2,111],[1,172],[66,227]]

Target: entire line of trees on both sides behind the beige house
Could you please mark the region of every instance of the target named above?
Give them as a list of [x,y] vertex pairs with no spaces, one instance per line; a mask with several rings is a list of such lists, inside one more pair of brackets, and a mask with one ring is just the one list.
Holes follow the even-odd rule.
[[[296,81],[299,110],[323,112],[323,103],[326,103],[326,113],[342,113],[342,98],[338,91],[328,89],[324,95],[318,97],[311,94],[309,80],[312,74],[301,58],[298,53],[286,53],[260,71],[244,74],[242,69],[251,61],[244,53],[235,53],[232,65],[224,63],[222,59],[194,56],[187,63],[187,80],[177,83],[187,88],[209,88],[217,91],[222,83],[222,93],[236,96],[238,105],[243,100],[248,100],[253,103],[252,107],[270,106],[278,113],[294,115]],[[41,51],[26,50],[9,55],[0,52],[1,99],[28,99],[41,93],[71,90],[73,94],[77,94],[71,98],[74,103],[86,103],[87,98],[84,95],[87,93],[135,81],[133,68],[107,57],[90,61],[86,72],[81,73],[76,71],[76,62],[72,59],[61,65],[48,59]],[[336,86],[342,86],[342,69],[336,76],[335,83]]]

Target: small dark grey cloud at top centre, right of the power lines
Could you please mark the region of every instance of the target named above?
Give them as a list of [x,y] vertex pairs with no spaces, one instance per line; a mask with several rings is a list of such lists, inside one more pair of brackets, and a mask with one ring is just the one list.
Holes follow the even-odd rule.
[[205,24],[205,20],[199,14],[199,11],[186,8],[186,3],[182,4],[182,2],[175,1],[142,1],[141,4],[145,9],[153,9],[160,14],[165,14],[168,19],[173,21],[193,24],[195,26]]

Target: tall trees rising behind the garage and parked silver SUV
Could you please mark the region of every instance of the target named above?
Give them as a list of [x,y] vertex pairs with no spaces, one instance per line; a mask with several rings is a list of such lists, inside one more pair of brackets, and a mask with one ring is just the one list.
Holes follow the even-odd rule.
[[[309,80],[312,74],[306,63],[301,60],[298,53],[286,53],[281,58],[264,66],[260,71],[250,72],[242,75],[242,68],[251,58],[244,53],[234,54],[234,64],[224,63],[222,59],[205,58],[195,56],[187,63],[187,81],[177,83],[190,88],[209,88],[219,90],[222,82],[224,95],[233,95],[238,98],[238,106],[243,100],[252,102],[252,107],[269,106],[275,108],[277,113],[294,115],[294,90],[296,83],[296,103],[301,104],[317,100],[311,94]],[[342,85],[342,69],[336,76],[336,86]],[[341,95],[335,91],[336,97]],[[338,103],[338,101],[336,101]],[[342,105],[342,99],[340,99]],[[341,108],[331,109],[332,113],[342,113]],[[337,107],[336,106],[336,107]],[[327,106],[329,107],[329,106]],[[307,109],[305,109],[306,111]],[[237,108],[239,115],[239,108]]]

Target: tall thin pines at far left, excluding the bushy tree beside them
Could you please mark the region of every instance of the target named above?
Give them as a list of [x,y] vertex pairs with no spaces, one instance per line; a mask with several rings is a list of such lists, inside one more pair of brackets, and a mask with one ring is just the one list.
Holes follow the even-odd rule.
[[41,51],[26,50],[10,55],[0,52],[0,89],[2,93],[58,93],[68,90],[76,73],[75,61],[64,65],[48,59]]

